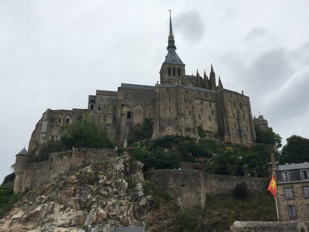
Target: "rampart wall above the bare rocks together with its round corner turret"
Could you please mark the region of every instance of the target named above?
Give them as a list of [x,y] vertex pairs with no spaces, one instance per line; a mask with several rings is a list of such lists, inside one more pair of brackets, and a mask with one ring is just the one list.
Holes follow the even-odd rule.
[[48,161],[29,163],[28,154],[17,154],[14,191],[19,192],[24,188],[31,189],[37,185],[46,184],[60,174],[72,174],[95,161],[117,156],[114,149],[73,148],[72,151],[49,154]]

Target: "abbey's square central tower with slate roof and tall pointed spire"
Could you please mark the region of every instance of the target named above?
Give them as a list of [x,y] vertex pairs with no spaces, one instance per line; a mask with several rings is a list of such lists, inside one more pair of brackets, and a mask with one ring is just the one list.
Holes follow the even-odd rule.
[[174,34],[172,29],[171,13],[170,13],[170,31],[168,33],[167,55],[160,70],[160,84],[167,76],[167,79],[174,84],[176,80],[185,77],[185,64],[181,61],[176,53]]

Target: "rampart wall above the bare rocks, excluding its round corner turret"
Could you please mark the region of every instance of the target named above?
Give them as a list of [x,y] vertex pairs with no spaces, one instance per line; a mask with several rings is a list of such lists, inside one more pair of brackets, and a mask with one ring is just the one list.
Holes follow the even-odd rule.
[[95,161],[112,157],[117,157],[114,149],[73,148],[72,151],[51,153],[48,161],[28,165],[22,187],[32,188],[48,183],[59,174],[74,173]]

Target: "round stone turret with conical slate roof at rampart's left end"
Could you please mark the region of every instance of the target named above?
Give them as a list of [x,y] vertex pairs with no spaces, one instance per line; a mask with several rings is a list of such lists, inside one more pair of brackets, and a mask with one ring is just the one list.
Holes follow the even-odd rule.
[[20,192],[23,187],[23,177],[25,174],[25,171],[28,167],[28,164],[30,162],[30,155],[28,155],[28,152],[26,148],[23,148],[17,155],[15,159],[15,182],[14,182],[14,192]]

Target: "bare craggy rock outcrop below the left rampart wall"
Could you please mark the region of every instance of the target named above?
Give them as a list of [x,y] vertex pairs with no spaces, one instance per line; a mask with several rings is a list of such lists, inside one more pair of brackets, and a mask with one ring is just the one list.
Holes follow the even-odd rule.
[[126,155],[60,174],[23,195],[0,220],[0,231],[110,232],[146,225],[154,202],[144,194],[142,167]]

